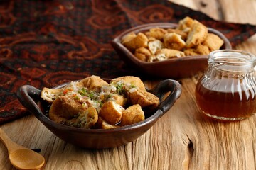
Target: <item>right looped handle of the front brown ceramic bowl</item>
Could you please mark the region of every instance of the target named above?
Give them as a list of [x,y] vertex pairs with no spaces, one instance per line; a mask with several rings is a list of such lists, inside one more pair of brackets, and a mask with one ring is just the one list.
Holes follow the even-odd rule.
[[[169,109],[174,106],[176,100],[181,96],[181,84],[176,80],[166,79],[160,81],[160,83],[154,87],[154,89],[149,90],[152,94],[155,94],[160,98],[160,106],[158,111],[161,111],[161,114],[164,115]],[[170,92],[170,94],[161,101],[164,96]]]

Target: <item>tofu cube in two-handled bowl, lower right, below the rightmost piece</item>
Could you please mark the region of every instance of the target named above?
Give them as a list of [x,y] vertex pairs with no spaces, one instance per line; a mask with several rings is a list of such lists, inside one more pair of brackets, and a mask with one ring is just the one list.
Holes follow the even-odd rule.
[[144,111],[139,104],[129,106],[125,109],[122,114],[121,125],[131,125],[133,123],[138,123],[145,119]]

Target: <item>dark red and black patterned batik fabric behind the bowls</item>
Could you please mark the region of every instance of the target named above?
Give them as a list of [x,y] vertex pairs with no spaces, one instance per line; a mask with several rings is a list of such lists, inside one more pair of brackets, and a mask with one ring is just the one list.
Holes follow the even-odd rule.
[[127,28],[185,16],[220,30],[233,47],[256,32],[255,26],[215,21],[169,1],[0,1],[0,124],[28,114],[16,98],[24,84],[41,89],[92,74],[138,75],[110,41]]

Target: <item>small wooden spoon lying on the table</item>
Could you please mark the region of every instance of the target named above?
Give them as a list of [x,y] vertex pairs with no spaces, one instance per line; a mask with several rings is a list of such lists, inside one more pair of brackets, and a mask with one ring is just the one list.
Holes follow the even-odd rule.
[[11,141],[1,128],[0,140],[8,149],[9,159],[16,169],[41,169],[45,163],[45,159],[41,154]]

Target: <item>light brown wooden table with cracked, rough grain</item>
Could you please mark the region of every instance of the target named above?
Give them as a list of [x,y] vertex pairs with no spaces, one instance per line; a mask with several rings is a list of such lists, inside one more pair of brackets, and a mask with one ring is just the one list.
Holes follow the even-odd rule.
[[[256,24],[255,0],[172,0],[229,22]],[[256,54],[256,35],[235,47]],[[256,115],[235,123],[203,118],[196,106],[194,77],[180,79],[183,92],[173,108],[128,145],[89,150],[55,137],[33,115],[1,125],[20,145],[40,148],[43,169],[256,169]],[[156,82],[145,81],[149,87]],[[14,169],[0,144],[0,169]]]

